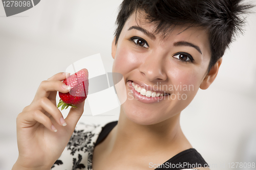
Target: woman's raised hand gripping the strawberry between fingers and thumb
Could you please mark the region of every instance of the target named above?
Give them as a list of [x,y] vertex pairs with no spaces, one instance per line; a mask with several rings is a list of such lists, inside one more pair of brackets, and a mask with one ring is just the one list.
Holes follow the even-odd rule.
[[12,169],[50,169],[65,149],[83,113],[84,102],[71,108],[66,119],[56,107],[57,91],[67,93],[58,73],[41,82],[32,103],[17,116],[19,156]]

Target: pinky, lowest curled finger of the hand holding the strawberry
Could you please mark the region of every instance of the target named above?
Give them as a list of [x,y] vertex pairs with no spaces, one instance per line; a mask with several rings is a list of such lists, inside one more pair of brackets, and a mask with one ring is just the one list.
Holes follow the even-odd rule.
[[44,113],[40,110],[31,110],[28,112],[20,113],[17,117],[17,125],[21,128],[28,128],[35,125],[38,122],[44,125],[47,129],[52,132],[57,132],[57,129],[51,122],[51,119],[47,117]]

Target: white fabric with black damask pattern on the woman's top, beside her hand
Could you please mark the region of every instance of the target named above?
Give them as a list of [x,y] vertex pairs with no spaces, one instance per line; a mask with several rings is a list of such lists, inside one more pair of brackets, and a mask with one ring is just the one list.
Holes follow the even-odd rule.
[[[105,124],[104,124],[105,125]],[[79,124],[52,170],[92,170],[93,149],[104,125]]]

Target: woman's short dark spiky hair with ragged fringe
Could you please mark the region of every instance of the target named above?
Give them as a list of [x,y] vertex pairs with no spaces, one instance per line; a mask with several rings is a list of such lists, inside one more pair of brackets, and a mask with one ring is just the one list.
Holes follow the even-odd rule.
[[156,23],[154,33],[164,38],[176,26],[207,29],[211,47],[211,67],[224,55],[234,36],[243,33],[245,16],[253,5],[242,0],[124,0],[117,15],[115,37],[118,38],[126,20],[133,12],[144,13],[148,22]]

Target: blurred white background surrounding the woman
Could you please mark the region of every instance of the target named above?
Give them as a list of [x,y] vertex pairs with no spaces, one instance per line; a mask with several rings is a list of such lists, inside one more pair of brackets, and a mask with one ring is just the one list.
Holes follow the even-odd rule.
[[[106,72],[112,72],[111,42],[120,4],[44,0],[11,17],[0,5],[1,170],[11,169],[17,159],[16,116],[31,103],[41,81],[97,53]],[[256,14],[247,21],[244,36],[226,51],[215,82],[199,90],[181,116],[193,147],[210,165],[216,164],[211,169],[229,169],[232,162],[256,163]],[[119,108],[99,116],[85,112],[80,121],[110,122],[118,113]]]

